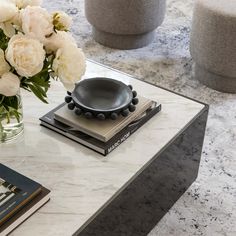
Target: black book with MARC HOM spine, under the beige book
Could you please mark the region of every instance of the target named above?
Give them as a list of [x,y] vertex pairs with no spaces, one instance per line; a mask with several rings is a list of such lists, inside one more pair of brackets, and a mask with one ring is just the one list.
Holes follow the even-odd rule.
[[139,129],[143,124],[145,124],[149,119],[151,119],[155,114],[161,110],[161,105],[156,102],[152,103],[152,106],[142,113],[137,119],[128,124],[120,132],[118,132],[114,137],[112,137],[108,142],[102,142],[97,140],[81,131],[76,130],[67,124],[61,123],[54,119],[54,112],[63,107],[65,103],[59,105],[46,115],[40,118],[41,125],[47,127],[57,133],[60,133],[67,138],[70,138],[94,151],[107,155],[123,143],[130,135],[132,135],[137,129]]

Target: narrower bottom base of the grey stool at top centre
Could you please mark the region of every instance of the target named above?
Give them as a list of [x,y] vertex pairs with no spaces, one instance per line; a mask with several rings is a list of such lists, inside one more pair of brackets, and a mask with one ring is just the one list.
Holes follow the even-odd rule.
[[93,27],[93,38],[96,42],[111,48],[136,49],[150,44],[155,37],[155,31],[145,34],[121,35],[97,30]]

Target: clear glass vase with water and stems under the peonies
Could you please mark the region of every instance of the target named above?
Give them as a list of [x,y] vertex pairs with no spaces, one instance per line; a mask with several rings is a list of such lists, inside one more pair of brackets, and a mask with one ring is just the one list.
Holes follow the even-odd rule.
[[20,92],[16,96],[18,102],[17,116],[11,108],[7,112],[3,105],[0,105],[0,143],[11,142],[23,133],[23,109]]

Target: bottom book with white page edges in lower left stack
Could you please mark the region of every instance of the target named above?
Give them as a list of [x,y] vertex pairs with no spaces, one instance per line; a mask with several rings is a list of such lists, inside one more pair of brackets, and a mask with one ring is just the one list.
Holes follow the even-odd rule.
[[35,198],[29,201],[21,210],[0,226],[0,235],[8,235],[12,230],[46,204],[50,199],[49,193],[50,191],[48,189],[42,187],[42,191]]

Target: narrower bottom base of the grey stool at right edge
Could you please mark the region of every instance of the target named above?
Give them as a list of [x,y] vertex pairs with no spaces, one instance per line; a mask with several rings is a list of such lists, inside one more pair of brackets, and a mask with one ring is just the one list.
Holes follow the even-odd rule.
[[220,92],[236,93],[236,78],[215,74],[198,64],[195,64],[195,78]]

